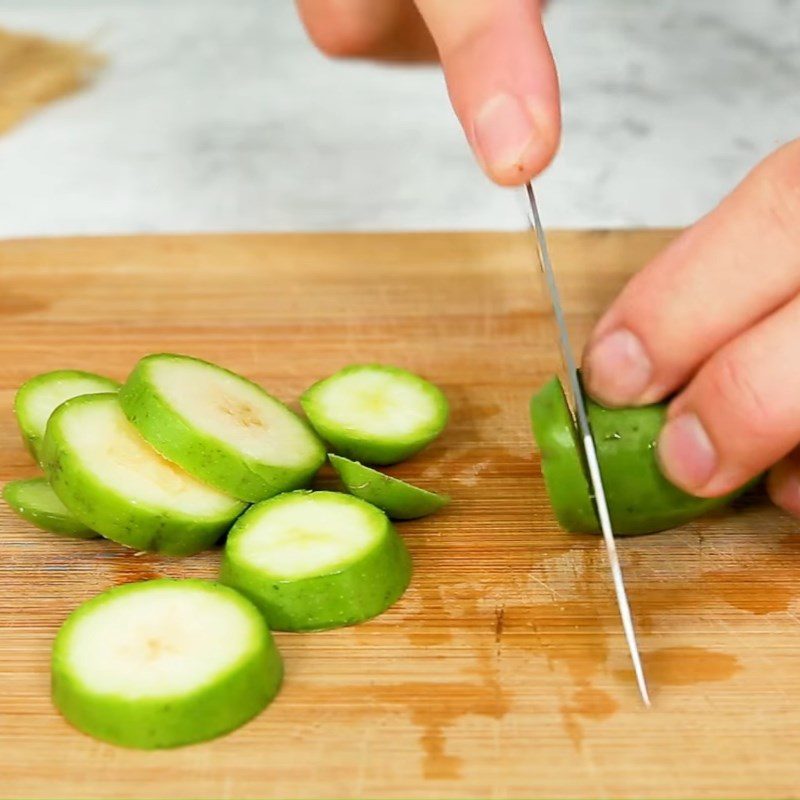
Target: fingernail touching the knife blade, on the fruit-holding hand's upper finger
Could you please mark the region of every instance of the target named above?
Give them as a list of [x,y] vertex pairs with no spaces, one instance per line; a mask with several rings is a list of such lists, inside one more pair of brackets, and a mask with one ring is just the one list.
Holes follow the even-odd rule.
[[653,365],[639,338],[620,328],[589,348],[584,365],[589,393],[602,403],[635,403],[650,384]]

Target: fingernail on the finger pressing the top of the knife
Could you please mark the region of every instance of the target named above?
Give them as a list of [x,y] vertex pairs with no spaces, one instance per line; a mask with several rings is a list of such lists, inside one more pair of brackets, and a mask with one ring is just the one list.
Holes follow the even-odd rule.
[[533,114],[510,94],[495,95],[484,103],[475,116],[473,132],[478,156],[491,172],[523,170],[540,138]]

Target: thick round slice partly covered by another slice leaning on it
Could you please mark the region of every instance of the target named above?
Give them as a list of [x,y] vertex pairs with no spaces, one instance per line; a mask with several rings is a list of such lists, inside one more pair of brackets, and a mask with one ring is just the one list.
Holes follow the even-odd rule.
[[245,508],[158,455],[125,418],[116,395],[59,406],[43,454],[50,484],[72,514],[137,550],[205,550]]

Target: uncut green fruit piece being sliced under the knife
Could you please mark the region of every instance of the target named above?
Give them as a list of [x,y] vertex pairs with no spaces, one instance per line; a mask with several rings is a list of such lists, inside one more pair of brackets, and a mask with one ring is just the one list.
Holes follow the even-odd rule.
[[[724,497],[700,498],[683,492],[661,473],[656,443],[666,404],[609,409],[587,401],[614,532],[655,533],[683,525],[721,508],[752,484]],[[598,533],[572,413],[557,378],[531,402],[534,437],[542,473],[559,523],[567,530]]]

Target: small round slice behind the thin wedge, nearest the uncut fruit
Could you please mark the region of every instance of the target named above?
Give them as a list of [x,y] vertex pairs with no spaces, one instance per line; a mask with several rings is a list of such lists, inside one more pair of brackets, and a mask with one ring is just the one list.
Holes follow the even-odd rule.
[[317,433],[340,455],[396,464],[444,430],[441,390],[398,367],[351,366],[315,383],[301,399]]

